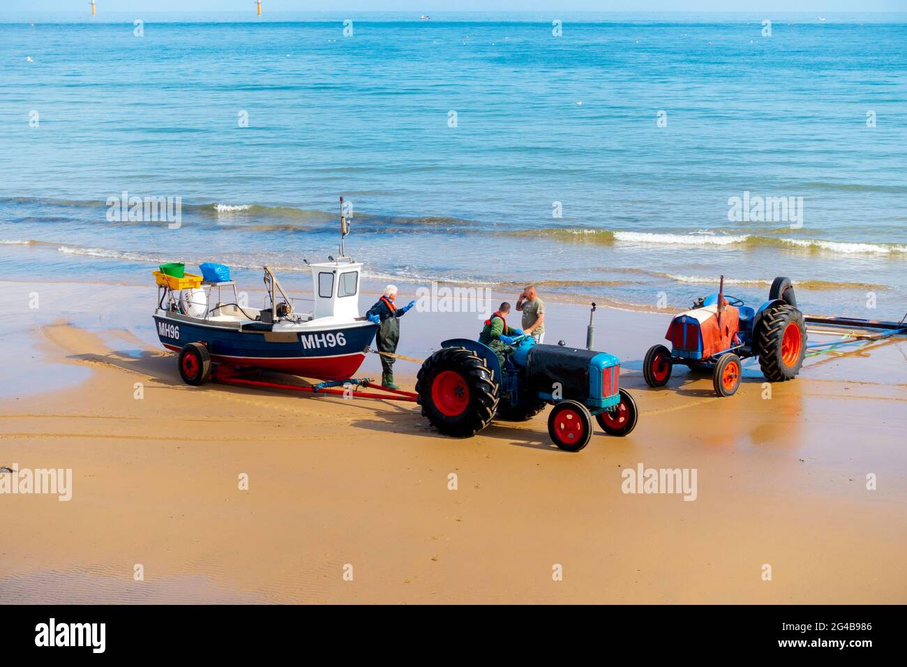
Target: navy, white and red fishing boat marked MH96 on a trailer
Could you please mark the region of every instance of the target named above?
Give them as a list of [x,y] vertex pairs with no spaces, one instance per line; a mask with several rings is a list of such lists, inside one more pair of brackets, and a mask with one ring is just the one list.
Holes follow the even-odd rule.
[[260,309],[240,303],[233,280],[169,270],[171,265],[154,271],[158,286],[154,322],[161,345],[180,353],[183,380],[203,384],[215,367],[332,381],[351,378],[378,325],[359,315],[362,264],[344,256],[348,231],[341,210],[340,256],[319,263],[304,260],[312,273],[314,294],[314,309],[307,313],[297,311],[267,266],[262,268],[266,302]]

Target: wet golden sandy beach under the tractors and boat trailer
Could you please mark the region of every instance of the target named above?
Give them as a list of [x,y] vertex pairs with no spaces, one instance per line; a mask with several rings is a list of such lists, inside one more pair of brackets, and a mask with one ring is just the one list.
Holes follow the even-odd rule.
[[[150,286],[0,287],[0,466],[73,471],[68,501],[0,495],[0,603],[907,602],[903,340],[807,359],[770,399],[749,362],[718,399],[686,370],[645,386],[665,315],[600,309],[639,426],[570,454],[547,410],[459,440],[414,404],[186,386]],[[549,307],[546,342],[581,346],[588,309]],[[402,325],[415,358],[479,329]],[[369,355],[359,375],[379,372]],[[640,465],[696,469],[695,501],[624,493]]]

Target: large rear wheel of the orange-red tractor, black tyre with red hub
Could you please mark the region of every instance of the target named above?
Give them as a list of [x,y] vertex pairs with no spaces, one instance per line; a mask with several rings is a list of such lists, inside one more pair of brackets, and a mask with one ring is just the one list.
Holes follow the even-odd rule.
[[759,368],[770,382],[792,380],[806,355],[806,325],[803,313],[776,303],[762,313],[756,330]]

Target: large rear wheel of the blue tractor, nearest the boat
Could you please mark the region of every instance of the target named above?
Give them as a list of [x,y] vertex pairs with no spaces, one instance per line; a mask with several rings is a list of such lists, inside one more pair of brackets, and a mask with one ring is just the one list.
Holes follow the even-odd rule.
[[423,417],[446,436],[474,436],[488,426],[498,407],[492,371],[465,348],[442,348],[425,359],[415,392]]

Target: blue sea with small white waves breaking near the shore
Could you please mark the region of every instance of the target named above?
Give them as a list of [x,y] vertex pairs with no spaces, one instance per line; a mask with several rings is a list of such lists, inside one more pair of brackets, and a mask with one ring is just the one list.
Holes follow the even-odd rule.
[[907,311],[907,14],[249,7],[0,14],[0,280]]

